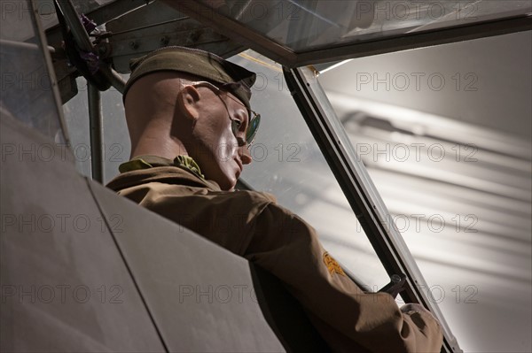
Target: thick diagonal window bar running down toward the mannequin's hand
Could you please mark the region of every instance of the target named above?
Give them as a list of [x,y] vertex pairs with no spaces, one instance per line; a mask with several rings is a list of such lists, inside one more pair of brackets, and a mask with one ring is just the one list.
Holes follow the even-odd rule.
[[[444,336],[443,351],[461,352],[442,312],[421,290],[428,288],[426,281],[403,238],[390,222],[389,212],[364,165],[357,158],[349,156],[347,134],[342,136],[335,129],[332,123],[336,119],[334,111],[325,93],[319,92],[321,88],[314,72],[309,67],[292,70],[284,67],[284,72],[295,103],[388,274],[406,274],[406,290],[401,294],[403,300],[407,303],[422,303],[440,320]],[[311,77],[314,80],[309,80]]]

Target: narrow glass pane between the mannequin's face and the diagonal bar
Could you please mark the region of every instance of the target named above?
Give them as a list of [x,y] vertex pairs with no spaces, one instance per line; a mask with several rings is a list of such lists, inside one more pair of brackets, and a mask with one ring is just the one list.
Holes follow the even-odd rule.
[[[248,50],[231,61],[257,73],[252,107],[262,114],[242,179],[317,229],[325,249],[376,290],[389,277],[286,87],[277,63]],[[364,269],[364,271],[361,271]]]

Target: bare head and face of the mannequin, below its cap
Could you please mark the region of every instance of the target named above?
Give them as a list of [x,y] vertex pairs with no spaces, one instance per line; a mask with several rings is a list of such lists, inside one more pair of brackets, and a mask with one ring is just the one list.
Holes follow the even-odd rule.
[[[164,71],[146,74],[130,85],[124,106],[131,157],[190,156],[207,179],[230,190],[243,165],[252,161],[247,145],[238,141],[246,136],[248,111],[231,93],[199,81],[205,78]],[[236,133],[235,120],[240,127]]]

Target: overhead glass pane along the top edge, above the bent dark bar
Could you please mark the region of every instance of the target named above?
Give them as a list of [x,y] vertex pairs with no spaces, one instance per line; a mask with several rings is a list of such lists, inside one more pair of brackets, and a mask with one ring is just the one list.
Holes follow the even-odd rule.
[[532,12],[528,0],[200,2],[296,52]]

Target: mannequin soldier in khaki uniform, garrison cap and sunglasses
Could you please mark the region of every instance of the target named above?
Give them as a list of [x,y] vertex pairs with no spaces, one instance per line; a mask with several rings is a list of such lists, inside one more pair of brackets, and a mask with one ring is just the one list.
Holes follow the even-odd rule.
[[429,311],[364,293],[305,221],[268,194],[233,190],[252,162],[260,121],[249,103],[254,73],[182,47],[131,68],[124,104],[132,159],[109,188],[277,276],[334,351],[440,351],[441,327]]

